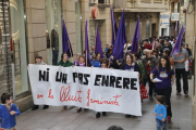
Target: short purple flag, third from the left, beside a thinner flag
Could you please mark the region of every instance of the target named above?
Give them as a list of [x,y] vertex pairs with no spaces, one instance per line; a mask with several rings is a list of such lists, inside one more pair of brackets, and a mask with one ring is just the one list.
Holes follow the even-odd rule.
[[97,25],[97,36],[96,36],[95,53],[97,54],[98,52],[101,53],[101,57],[103,57],[101,40],[100,40],[100,36],[99,36],[99,29],[98,29],[98,25]]

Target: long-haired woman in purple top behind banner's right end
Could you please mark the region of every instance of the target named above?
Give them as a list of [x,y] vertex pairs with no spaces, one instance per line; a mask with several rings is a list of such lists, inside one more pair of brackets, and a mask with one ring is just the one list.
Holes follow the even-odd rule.
[[[130,53],[125,55],[125,63],[123,63],[120,66],[120,69],[122,69],[122,70],[130,70],[130,72],[138,72],[138,77],[142,76],[139,66],[137,65],[136,62],[134,62],[133,55],[130,54]],[[130,118],[131,115],[125,115],[125,117]]]

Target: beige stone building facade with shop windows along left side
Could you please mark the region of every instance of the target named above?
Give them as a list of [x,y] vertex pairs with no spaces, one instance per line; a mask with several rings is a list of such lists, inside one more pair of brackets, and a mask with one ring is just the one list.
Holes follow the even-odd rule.
[[13,92],[22,112],[33,105],[27,65],[35,64],[37,54],[48,65],[57,65],[61,60],[62,20],[73,50],[72,62],[85,50],[86,21],[90,47],[95,46],[97,25],[102,48],[111,43],[112,0],[0,0],[0,93]]

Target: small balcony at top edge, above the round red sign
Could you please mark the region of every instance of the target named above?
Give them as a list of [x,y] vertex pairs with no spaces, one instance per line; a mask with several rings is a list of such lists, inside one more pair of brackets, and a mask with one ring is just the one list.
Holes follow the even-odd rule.
[[89,6],[98,5],[98,8],[110,8],[111,0],[89,0]]

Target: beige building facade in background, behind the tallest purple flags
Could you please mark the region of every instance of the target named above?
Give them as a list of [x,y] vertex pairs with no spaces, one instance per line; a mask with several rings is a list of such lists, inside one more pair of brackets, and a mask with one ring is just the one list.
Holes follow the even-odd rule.
[[[140,40],[148,39],[150,37],[161,36],[161,21],[160,13],[169,12],[168,0],[114,0],[115,18],[120,22],[120,16],[124,9],[125,22],[126,22],[126,35],[127,39],[133,40],[134,30],[137,16],[139,16],[139,32]],[[164,26],[162,28],[168,28]],[[169,30],[164,30],[169,31]]]

